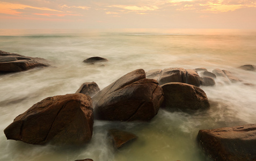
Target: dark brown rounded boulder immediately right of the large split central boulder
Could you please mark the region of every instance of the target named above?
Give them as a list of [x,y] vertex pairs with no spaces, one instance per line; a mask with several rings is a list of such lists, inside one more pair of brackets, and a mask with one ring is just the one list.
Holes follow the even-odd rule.
[[166,83],[161,87],[164,91],[162,107],[165,109],[189,112],[210,107],[206,93],[199,87],[185,83]]

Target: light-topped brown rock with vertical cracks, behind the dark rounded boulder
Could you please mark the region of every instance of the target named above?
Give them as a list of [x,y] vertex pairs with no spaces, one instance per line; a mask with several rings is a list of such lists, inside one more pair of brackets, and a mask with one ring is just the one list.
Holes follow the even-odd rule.
[[167,68],[161,72],[158,78],[158,83],[159,85],[163,85],[170,82],[180,82],[200,86],[200,77],[192,69]]

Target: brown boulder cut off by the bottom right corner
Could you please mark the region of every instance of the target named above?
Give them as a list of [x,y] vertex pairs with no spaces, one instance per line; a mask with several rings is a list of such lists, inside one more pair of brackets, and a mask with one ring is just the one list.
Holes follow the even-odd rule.
[[256,160],[256,125],[199,130],[198,143],[213,159]]

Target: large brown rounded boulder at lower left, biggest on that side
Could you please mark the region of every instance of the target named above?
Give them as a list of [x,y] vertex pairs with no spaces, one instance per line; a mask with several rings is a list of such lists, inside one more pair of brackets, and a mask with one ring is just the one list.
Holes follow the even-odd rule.
[[4,134],[30,144],[84,144],[91,140],[92,128],[92,100],[78,93],[43,99],[18,115]]

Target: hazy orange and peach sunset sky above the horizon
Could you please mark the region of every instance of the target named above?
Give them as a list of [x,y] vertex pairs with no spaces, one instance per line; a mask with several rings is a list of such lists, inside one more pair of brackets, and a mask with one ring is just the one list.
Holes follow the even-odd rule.
[[256,29],[256,0],[0,0],[0,28]]

